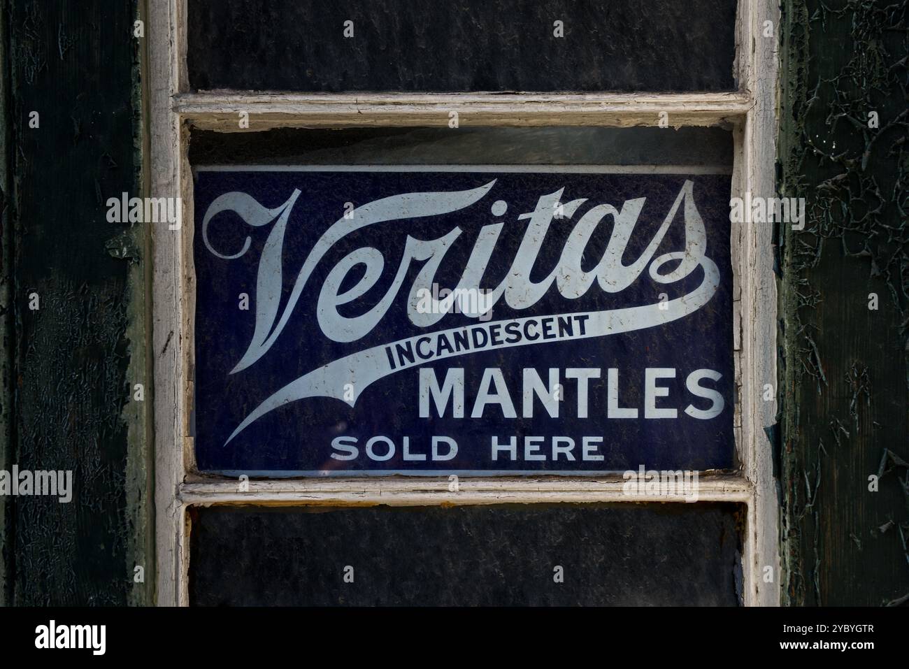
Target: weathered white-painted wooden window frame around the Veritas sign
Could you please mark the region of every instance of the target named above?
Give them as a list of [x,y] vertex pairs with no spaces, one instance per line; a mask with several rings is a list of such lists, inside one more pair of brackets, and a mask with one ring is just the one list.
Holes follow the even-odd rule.
[[[210,504],[502,504],[540,502],[682,502],[684,497],[622,493],[621,476],[464,477],[457,493],[438,477],[331,477],[250,481],[195,474],[189,436],[193,385],[193,193],[189,126],[249,130],[379,125],[445,126],[450,111],[464,125],[656,125],[733,127],[733,195],[773,196],[779,11],[771,0],[739,0],[735,71],[739,90],[704,94],[279,94],[189,93],[185,0],[155,0],[147,16],[147,188],[181,196],[183,224],[153,231],[152,292],[155,412],[156,602],[188,604],[190,506]],[[772,22],[773,38],[763,36]],[[734,358],[737,401],[735,474],[702,474],[699,501],[747,508],[743,546],[745,605],[779,605],[778,502],[771,444],[764,427],[776,414],[776,285],[773,225],[735,224]],[[764,401],[771,384],[774,400]],[[768,567],[772,579],[768,583]]]

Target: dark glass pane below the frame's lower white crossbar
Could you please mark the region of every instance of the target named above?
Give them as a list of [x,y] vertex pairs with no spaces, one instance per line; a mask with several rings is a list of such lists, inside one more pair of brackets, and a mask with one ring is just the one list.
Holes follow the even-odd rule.
[[194,605],[740,604],[733,504],[214,507],[193,516]]

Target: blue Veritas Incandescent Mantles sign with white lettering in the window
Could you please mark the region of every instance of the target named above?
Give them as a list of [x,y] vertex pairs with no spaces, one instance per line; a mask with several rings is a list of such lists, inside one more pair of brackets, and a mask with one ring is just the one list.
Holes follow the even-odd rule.
[[729,195],[694,168],[197,168],[199,469],[731,467]]

